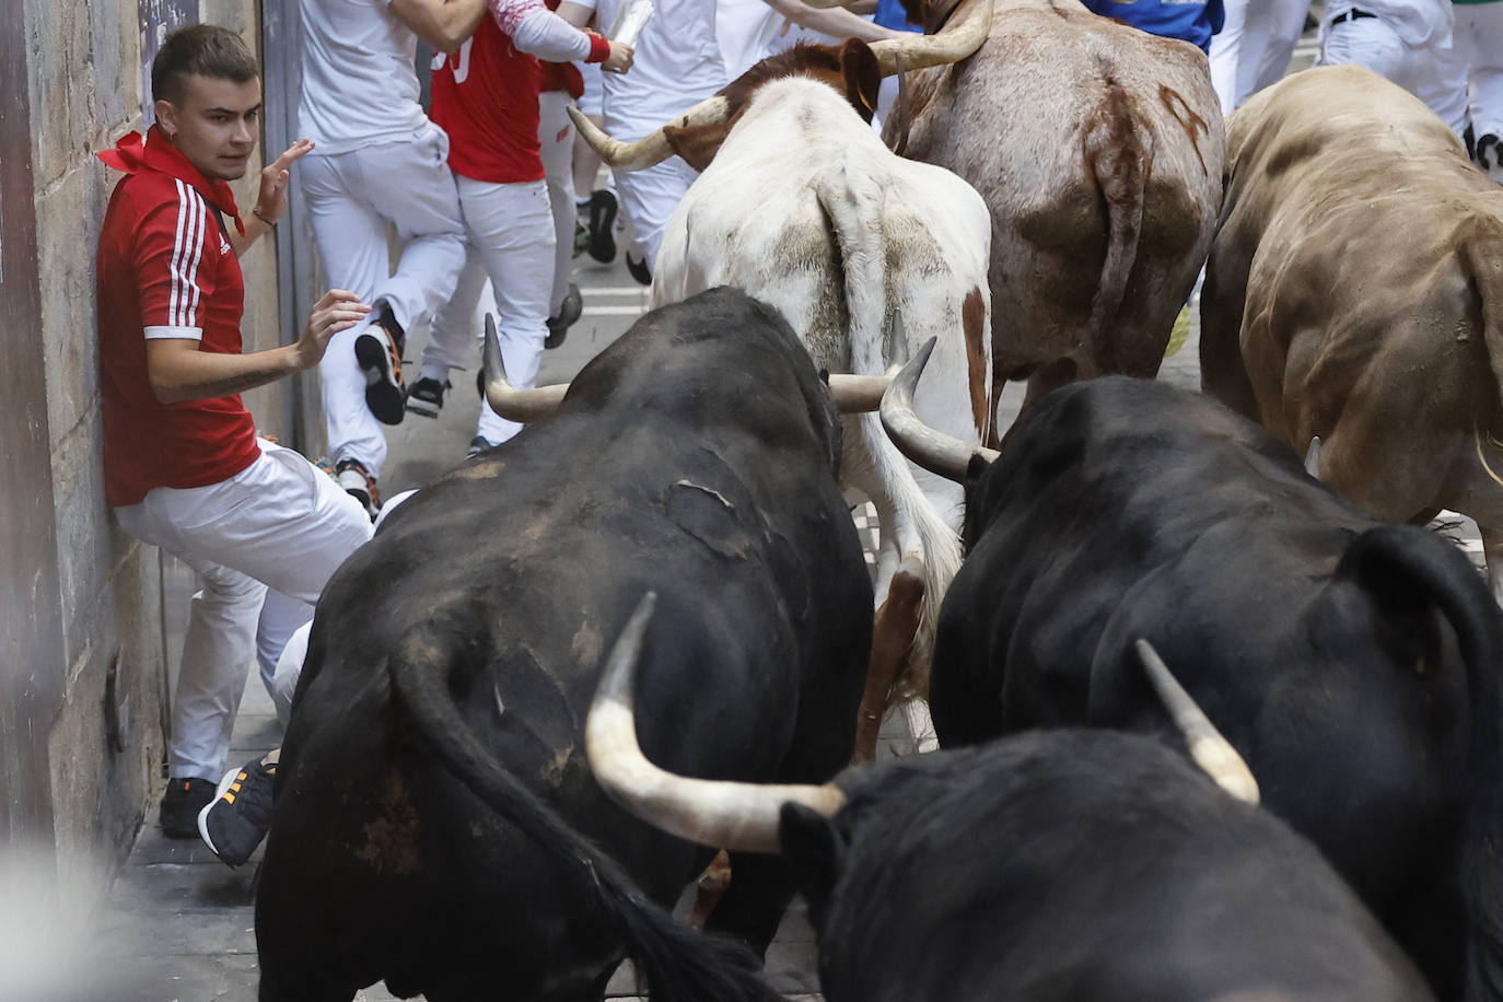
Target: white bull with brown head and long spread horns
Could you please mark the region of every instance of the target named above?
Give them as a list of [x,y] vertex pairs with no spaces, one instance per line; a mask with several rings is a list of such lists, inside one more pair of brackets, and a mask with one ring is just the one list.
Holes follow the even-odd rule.
[[[986,440],[986,204],[954,174],[893,155],[870,119],[884,75],[963,59],[990,14],[972,2],[932,38],[795,48],[631,146],[576,116],[616,170],[678,153],[702,171],[669,221],[654,305],[735,285],[776,306],[819,367],[869,377],[938,335],[917,407],[957,437]],[[902,335],[891,333],[897,315]],[[908,466],[873,413],[845,422],[842,485],[873,502],[881,527],[857,739],[857,756],[870,759],[894,688],[926,688],[939,599],[960,562],[960,494]]]

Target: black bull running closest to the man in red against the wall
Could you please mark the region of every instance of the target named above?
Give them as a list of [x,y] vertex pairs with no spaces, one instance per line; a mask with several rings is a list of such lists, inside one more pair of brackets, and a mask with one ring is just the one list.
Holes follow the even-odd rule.
[[[379,978],[430,1002],[497,979],[508,997],[600,999],[624,949],[651,969],[648,940],[672,927],[634,931],[652,909],[583,840],[658,903],[709,852],[591,778],[600,662],[652,589],[652,754],[702,777],[834,775],[872,631],[839,455],[788,324],[714,290],[643,317],[552,419],[394,512],[319,604],[256,906],[263,1002]],[[733,865],[708,927],[765,948],[791,874]]]

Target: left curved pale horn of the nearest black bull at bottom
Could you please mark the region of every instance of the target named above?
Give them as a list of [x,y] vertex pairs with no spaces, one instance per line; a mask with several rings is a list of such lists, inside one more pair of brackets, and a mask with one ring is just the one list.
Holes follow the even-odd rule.
[[606,658],[585,721],[585,754],[595,781],[621,807],[670,835],[742,852],[779,852],[783,804],[812,807],[825,817],[845,804],[836,786],[759,786],[691,780],[666,772],[642,754],[631,709],[642,637],[657,595],[648,592]]

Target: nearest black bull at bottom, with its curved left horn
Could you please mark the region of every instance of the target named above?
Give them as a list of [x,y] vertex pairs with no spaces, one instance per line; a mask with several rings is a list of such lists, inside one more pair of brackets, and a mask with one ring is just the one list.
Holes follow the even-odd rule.
[[1030,732],[821,787],[664,774],[631,739],[639,625],[591,709],[597,778],[666,831],[788,856],[830,1002],[1431,997],[1306,840],[1156,738]]

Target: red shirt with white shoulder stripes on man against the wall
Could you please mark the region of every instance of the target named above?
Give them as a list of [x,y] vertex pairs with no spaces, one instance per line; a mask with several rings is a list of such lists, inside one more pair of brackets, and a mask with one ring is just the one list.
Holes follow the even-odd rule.
[[230,186],[206,180],[155,126],[99,159],[126,174],[99,233],[105,500],[134,505],[153,487],[218,484],[260,455],[239,394],[162,404],[146,370],[149,338],[240,353],[245,279],[219,213],[243,228]]

